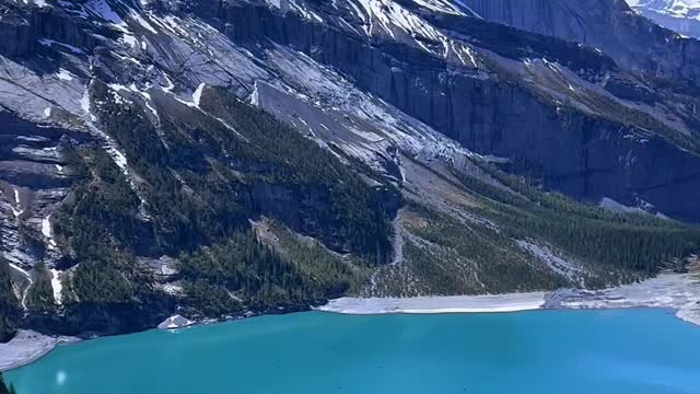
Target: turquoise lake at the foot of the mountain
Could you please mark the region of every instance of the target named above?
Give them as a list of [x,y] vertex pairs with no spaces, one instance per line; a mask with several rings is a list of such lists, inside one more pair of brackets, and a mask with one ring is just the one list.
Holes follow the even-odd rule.
[[299,313],[62,346],[20,394],[700,393],[700,327],[664,310]]

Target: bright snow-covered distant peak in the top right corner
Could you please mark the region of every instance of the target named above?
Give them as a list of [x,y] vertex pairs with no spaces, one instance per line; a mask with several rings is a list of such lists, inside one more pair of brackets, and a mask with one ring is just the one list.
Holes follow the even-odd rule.
[[700,1],[697,0],[628,0],[630,7],[685,36],[700,38]]

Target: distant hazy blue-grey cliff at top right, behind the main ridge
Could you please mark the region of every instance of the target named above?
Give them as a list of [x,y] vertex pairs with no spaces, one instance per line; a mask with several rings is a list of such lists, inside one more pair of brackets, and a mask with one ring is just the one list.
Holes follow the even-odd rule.
[[618,65],[674,79],[700,81],[700,43],[660,27],[625,0],[467,0],[481,18],[561,37],[611,56]]

